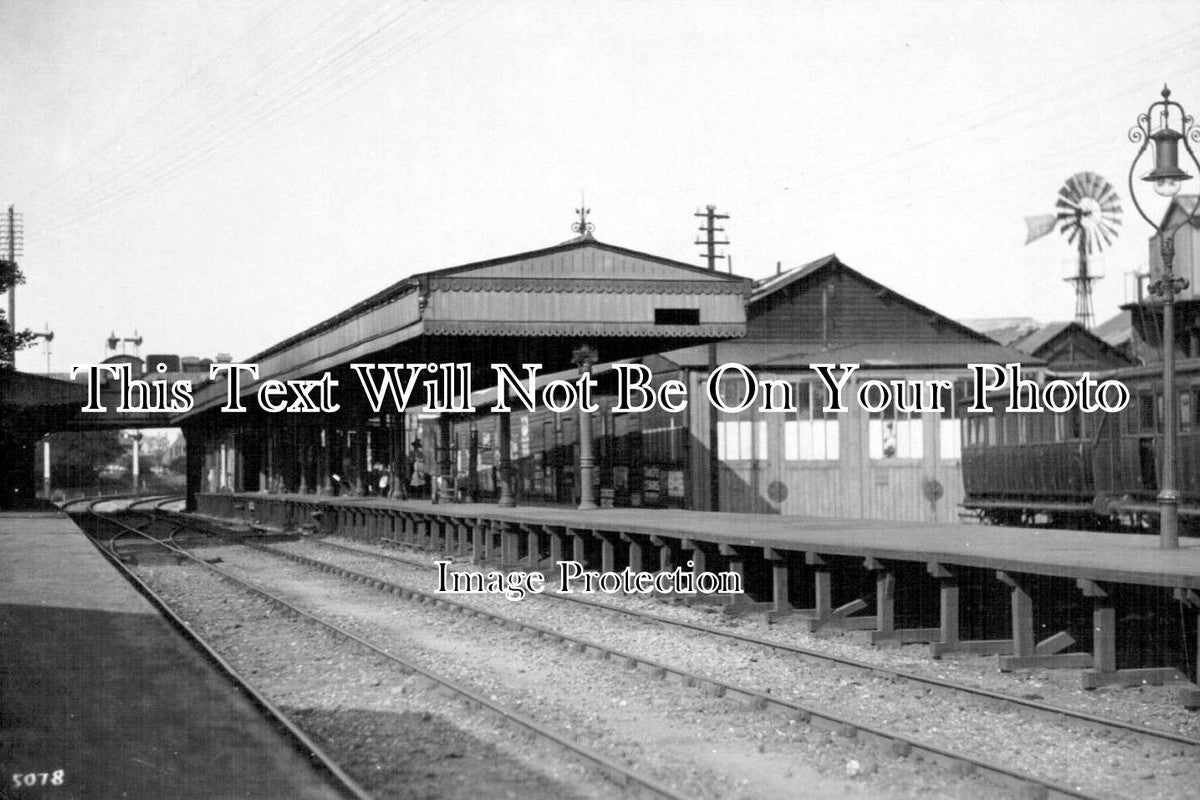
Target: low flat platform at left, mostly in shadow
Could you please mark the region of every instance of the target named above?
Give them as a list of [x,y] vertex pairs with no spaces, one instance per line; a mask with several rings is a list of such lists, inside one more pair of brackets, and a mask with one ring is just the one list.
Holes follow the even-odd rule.
[[347,796],[59,513],[0,515],[0,796]]

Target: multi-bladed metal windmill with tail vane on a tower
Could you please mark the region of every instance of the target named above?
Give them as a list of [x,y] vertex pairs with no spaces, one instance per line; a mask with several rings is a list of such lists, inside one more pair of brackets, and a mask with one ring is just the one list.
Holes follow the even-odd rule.
[[1042,239],[1062,223],[1058,233],[1067,236],[1068,245],[1075,245],[1079,269],[1068,283],[1075,284],[1075,321],[1091,330],[1092,284],[1098,279],[1088,271],[1088,258],[1117,237],[1121,224],[1121,198],[1108,182],[1096,173],[1075,173],[1058,190],[1055,200],[1057,211],[1036,217],[1025,217],[1028,235],[1025,243]]

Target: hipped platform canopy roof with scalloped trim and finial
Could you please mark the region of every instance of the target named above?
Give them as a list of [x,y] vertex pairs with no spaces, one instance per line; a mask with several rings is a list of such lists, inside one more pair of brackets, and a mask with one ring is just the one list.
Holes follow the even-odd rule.
[[[493,363],[572,365],[581,344],[602,361],[745,336],[749,278],[606,245],[592,236],[545,249],[421,272],[245,359],[251,395],[269,379],[322,373],[350,379],[350,363],[469,363],[476,389]],[[342,374],[344,373],[344,374]],[[196,389],[185,420],[224,403],[224,380]]]

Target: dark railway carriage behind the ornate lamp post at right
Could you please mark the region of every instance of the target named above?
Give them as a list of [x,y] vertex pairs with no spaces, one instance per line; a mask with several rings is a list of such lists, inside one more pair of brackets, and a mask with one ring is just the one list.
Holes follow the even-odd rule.
[[[964,507],[996,524],[1148,530],[1157,527],[1163,459],[1162,368],[1121,380],[1116,413],[964,414]],[[1182,533],[1200,535],[1200,359],[1177,368],[1176,487]]]

